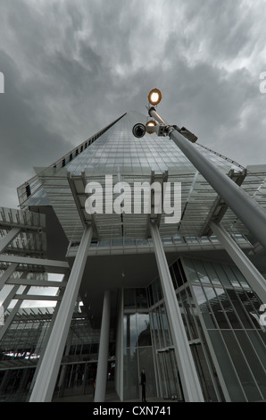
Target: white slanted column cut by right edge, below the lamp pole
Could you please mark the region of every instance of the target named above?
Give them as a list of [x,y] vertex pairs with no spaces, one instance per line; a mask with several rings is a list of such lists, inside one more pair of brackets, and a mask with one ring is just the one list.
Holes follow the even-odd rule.
[[229,256],[232,258],[237,268],[244,275],[251,289],[258,295],[262,302],[266,302],[266,280],[262,274],[252,264],[241,248],[238,247],[227,231],[219,223],[211,222],[210,228],[220,240]]

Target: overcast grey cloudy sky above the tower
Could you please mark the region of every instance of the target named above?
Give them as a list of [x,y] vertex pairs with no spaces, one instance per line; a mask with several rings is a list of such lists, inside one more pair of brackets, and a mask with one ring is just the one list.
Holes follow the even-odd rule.
[[266,164],[263,0],[1,0],[0,206],[162,90],[162,117],[239,164]]

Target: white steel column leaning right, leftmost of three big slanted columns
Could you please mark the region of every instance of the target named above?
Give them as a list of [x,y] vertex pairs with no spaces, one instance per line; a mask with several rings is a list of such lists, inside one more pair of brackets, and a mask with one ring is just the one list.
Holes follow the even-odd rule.
[[91,225],[87,225],[79,244],[77,256],[71,269],[70,278],[54,321],[54,328],[48,340],[29,402],[49,402],[53,397],[54,386],[71,325],[71,317],[78,298],[79,285],[86,265],[87,252],[92,235],[93,228]]

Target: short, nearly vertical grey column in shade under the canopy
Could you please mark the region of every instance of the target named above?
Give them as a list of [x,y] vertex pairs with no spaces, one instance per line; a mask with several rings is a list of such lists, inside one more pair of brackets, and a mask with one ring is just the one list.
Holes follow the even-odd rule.
[[108,368],[108,349],[109,349],[109,332],[110,332],[110,290],[104,291],[104,306],[100,334],[100,346],[96,374],[96,394],[95,402],[104,402],[106,382],[107,382],[107,368]]

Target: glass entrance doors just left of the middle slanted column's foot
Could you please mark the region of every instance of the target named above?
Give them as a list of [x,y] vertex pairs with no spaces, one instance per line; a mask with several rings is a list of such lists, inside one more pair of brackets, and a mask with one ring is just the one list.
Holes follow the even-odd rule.
[[157,362],[161,396],[184,401],[174,349],[157,350]]

